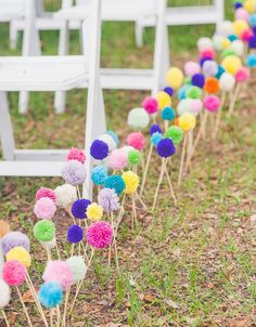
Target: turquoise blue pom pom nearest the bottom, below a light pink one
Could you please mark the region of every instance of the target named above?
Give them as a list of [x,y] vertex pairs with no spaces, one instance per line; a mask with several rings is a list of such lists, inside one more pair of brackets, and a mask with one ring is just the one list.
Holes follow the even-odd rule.
[[41,285],[38,298],[47,309],[55,308],[63,301],[63,290],[59,283],[49,282]]

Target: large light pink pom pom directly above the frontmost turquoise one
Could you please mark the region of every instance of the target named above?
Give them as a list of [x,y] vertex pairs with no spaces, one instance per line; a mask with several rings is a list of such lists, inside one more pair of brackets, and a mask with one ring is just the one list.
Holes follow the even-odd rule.
[[57,282],[63,289],[68,289],[73,284],[73,273],[66,261],[55,260],[49,261],[42,279],[48,282]]

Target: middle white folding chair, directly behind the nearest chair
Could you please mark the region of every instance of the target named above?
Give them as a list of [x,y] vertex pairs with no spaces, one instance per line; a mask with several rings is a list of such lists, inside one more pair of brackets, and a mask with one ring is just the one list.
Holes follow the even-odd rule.
[[[72,5],[66,0],[65,6],[55,14],[55,17],[66,22],[65,29],[61,31],[59,54],[68,51],[68,22],[82,21],[88,5],[93,0],[78,0]],[[154,63],[152,69],[106,69],[101,68],[101,82],[103,89],[151,90],[156,93],[164,87],[165,71],[169,67],[168,29],[165,24],[166,0],[103,0],[102,21],[138,22],[144,17],[153,17],[156,22]],[[65,94],[57,92],[54,105],[57,113],[64,112]]]

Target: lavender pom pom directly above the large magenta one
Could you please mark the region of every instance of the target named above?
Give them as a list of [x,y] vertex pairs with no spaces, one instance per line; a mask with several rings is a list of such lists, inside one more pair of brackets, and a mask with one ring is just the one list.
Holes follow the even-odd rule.
[[113,211],[117,211],[120,208],[119,198],[116,192],[112,188],[101,189],[98,195],[98,202],[103,207],[107,214]]

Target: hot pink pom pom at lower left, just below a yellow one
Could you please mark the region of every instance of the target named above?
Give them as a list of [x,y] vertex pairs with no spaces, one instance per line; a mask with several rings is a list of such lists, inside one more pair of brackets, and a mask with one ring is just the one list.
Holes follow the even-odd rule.
[[10,260],[2,265],[2,278],[10,286],[21,286],[26,279],[26,269],[17,260]]

